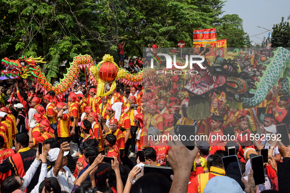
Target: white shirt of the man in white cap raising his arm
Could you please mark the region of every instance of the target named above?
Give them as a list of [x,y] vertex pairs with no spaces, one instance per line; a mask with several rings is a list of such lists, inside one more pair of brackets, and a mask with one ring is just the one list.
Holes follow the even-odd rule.
[[72,174],[70,169],[66,166],[63,167],[64,171],[58,171],[57,177],[53,174],[53,168],[48,172],[48,177],[55,177],[60,185],[61,191],[71,193],[74,188],[75,176]]

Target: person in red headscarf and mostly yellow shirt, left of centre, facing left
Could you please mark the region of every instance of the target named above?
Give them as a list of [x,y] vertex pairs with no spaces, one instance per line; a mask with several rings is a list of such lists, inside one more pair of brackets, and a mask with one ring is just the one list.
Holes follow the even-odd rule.
[[68,114],[64,114],[66,109],[63,109],[65,104],[63,102],[58,102],[56,107],[53,108],[57,112],[57,118],[59,119],[57,125],[57,138],[59,143],[70,142],[71,132],[70,132],[70,117]]

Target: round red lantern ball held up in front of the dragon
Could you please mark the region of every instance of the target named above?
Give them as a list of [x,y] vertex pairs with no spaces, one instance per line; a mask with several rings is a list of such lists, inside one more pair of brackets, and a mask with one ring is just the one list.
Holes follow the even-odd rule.
[[104,62],[99,69],[99,77],[104,82],[112,82],[118,75],[118,68],[111,62]]

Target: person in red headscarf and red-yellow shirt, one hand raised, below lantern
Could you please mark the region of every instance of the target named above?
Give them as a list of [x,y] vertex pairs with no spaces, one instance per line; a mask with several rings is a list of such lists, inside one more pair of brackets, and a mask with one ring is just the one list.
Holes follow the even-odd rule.
[[118,145],[120,147],[120,157],[121,157],[121,160],[122,160],[123,155],[124,155],[124,149],[125,149],[125,136],[124,136],[124,133],[119,129],[118,120],[117,119],[111,119],[110,122],[109,122],[109,128],[105,124],[105,120],[103,119],[103,117],[101,117],[101,123],[103,125],[104,132],[105,132],[106,135],[107,134],[114,134],[114,136],[116,136],[117,143],[118,143]]

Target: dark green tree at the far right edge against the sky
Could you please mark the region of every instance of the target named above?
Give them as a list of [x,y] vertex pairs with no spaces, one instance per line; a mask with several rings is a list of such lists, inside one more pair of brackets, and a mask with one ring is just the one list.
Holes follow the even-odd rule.
[[290,48],[290,24],[289,22],[284,22],[284,17],[282,17],[281,23],[276,24],[273,28],[271,44],[273,48]]

